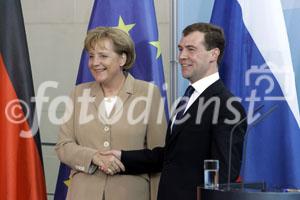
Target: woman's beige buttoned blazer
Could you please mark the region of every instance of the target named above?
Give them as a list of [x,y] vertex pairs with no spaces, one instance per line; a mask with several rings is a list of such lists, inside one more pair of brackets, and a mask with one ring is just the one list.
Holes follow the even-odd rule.
[[67,199],[156,199],[159,177],[109,176],[89,173],[96,151],[163,146],[166,119],[159,89],[127,75],[111,115],[105,115],[103,92],[96,82],[80,84],[70,95],[55,147],[61,162],[72,168]]

